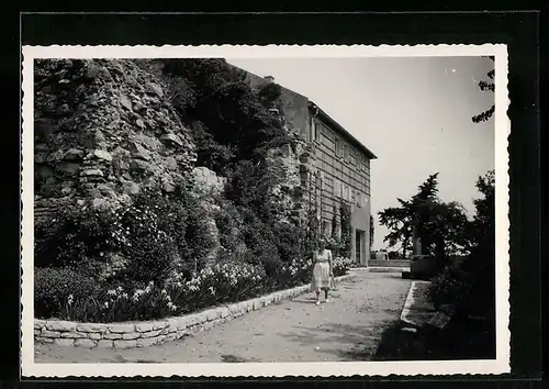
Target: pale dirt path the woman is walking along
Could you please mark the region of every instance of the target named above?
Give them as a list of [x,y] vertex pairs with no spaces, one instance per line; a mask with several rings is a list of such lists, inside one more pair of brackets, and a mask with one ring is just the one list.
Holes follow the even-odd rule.
[[367,360],[397,319],[410,280],[400,273],[357,273],[330,301],[311,293],[264,308],[161,346],[101,349],[36,345],[36,363],[220,363]]

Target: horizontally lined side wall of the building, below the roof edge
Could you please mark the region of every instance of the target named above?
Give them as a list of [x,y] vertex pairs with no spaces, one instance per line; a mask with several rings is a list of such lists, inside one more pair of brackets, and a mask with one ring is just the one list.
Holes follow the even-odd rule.
[[[248,74],[247,82],[251,88],[260,88],[269,80]],[[306,189],[307,179],[311,179],[316,170],[320,173],[321,190],[316,191],[316,198],[313,194],[312,201],[320,204],[317,216],[321,221],[321,231],[330,235],[334,215],[336,220],[339,219],[341,201],[350,203],[351,258],[356,258],[358,230],[363,232],[360,263],[367,265],[371,251],[370,159],[354,147],[354,142],[349,142],[328,123],[318,116],[313,118],[309,109],[310,100],[306,97],[282,87],[280,100],[288,123],[312,146],[312,155],[305,157],[304,165],[307,173],[302,176],[304,177],[302,186]],[[303,196],[303,203],[306,204],[310,193]],[[340,233],[340,226],[336,226],[336,233]]]

